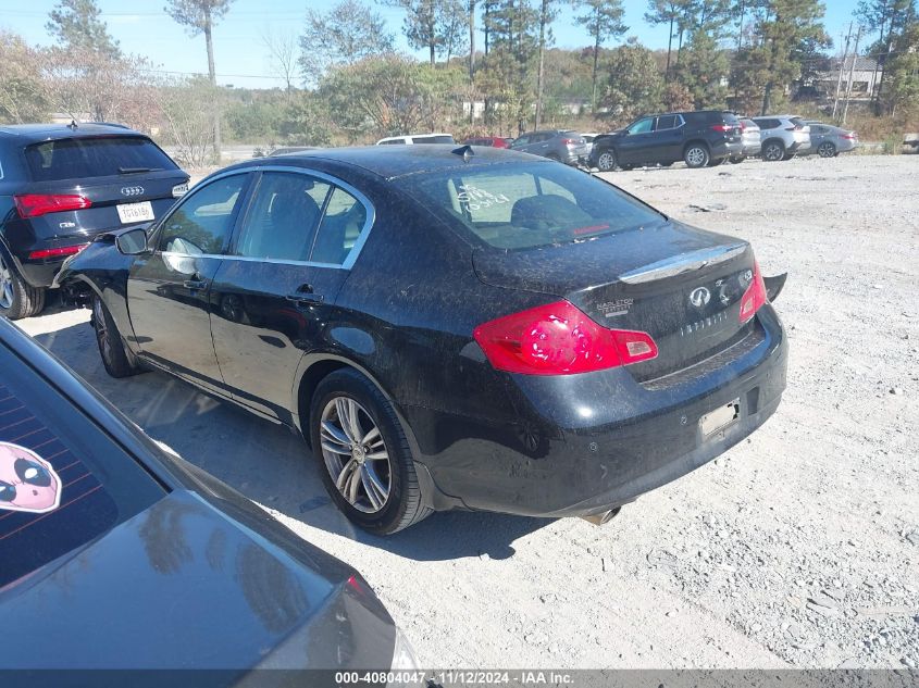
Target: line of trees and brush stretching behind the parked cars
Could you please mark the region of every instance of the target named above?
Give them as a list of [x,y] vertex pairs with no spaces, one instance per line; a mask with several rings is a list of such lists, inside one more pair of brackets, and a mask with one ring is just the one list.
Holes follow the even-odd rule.
[[[880,65],[879,115],[919,110],[919,0],[861,0],[855,21]],[[403,11],[400,54],[380,5]],[[122,121],[158,128],[190,163],[237,140],[363,142],[413,130],[521,130],[581,117],[609,128],[643,113],[784,109],[794,85],[829,68],[833,41],[819,0],[649,0],[666,26],[651,50],[624,23],[622,0],[340,0],[308,9],[301,29],[265,33],[280,89],[218,86],[213,42],[233,0],[167,0],[165,12],[203,36],[207,76],[167,75],[110,35],[96,0],[60,0],[51,48],[0,34],[0,118]],[[568,13],[583,48],[555,47]]]

